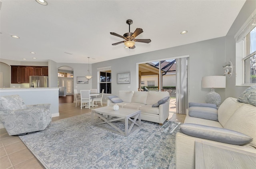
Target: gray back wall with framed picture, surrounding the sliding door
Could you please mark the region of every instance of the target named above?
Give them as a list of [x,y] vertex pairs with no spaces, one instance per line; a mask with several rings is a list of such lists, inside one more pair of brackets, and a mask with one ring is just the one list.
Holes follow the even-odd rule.
[[[215,38],[193,44],[177,46],[144,54],[128,56],[106,62],[92,64],[92,75],[96,77],[97,68],[111,66],[112,94],[119,90],[137,90],[136,63],[163,58],[177,58],[190,56],[190,96],[191,102],[205,102],[205,95],[210,89],[201,88],[203,76],[222,75],[222,66],[225,63],[225,37]],[[117,73],[131,72],[131,84],[117,84]],[[97,85],[97,79],[92,78],[92,85]],[[130,86],[130,88],[128,88]],[[225,89],[216,89],[222,99],[225,98]]]

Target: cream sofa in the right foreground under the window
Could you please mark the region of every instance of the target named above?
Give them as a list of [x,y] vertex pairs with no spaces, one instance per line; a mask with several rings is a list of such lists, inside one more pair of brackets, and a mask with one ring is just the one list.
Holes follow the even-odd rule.
[[[228,97],[220,105],[217,113],[218,121],[214,121],[190,117],[187,112],[184,124],[193,123],[238,131],[239,133],[252,137],[252,141],[243,145],[233,145],[192,137],[178,132],[176,134],[176,169],[195,168],[195,140],[210,141],[220,146],[225,145],[234,149],[256,153],[256,107],[247,103],[240,103],[236,98]],[[201,132],[199,132],[199,134],[201,134]]]

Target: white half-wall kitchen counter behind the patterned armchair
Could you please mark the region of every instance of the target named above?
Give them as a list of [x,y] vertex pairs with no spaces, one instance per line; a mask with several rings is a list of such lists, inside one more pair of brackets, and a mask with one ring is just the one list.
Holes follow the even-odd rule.
[[[58,87],[0,88],[0,96],[4,95],[20,95],[26,105],[50,103],[52,117],[60,115]],[[2,123],[0,128],[4,128]]]

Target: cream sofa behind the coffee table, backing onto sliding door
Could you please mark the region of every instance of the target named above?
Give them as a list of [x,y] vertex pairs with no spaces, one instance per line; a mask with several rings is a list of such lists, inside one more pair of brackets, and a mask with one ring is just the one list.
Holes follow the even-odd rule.
[[[159,107],[152,107],[154,103],[157,103],[160,99],[169,96],[167,91],[123,91],[118,92],[118,97],[123,102],[117,103],[119,107],[128,109],[138,109],[141,111],[141,119],[146,121],[152,121],[162,125],[169,116],[169,100]],[[107,106],[113,106],[109,99],[107,100]]]

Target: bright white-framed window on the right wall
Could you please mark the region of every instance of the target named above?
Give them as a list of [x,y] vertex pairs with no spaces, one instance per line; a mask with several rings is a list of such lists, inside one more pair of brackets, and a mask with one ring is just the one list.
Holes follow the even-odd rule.
[[256,10],[236,34],[236,85],[256,84]]

